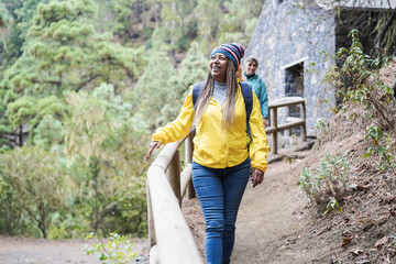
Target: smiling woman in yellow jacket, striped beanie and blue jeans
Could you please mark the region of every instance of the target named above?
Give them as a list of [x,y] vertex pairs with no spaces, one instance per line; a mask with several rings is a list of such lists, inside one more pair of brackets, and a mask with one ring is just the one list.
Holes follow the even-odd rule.
[[210,55],[209,74],[197,102],[187,96],[177,119],[155,131],[146,160],[161,144],[185,138],[196,127],[193,184],[206,221],[207,264],[230,263],[239,206],[252,167],[253,187],[264,179],[268,154],[260,102],[252,91],[246,110],[235,72],[244,47],[238,43],[217,46]]

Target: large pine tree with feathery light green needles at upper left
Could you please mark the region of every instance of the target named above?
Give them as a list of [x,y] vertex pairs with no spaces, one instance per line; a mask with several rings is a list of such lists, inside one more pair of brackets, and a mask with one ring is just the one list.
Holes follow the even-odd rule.
[[[18,134],[16,129],[26,123],[30,139],[34,138],[41,120],[26,105],[34,108],[33,102],[41,100],[36,98],[55,96],[62,101],[64,90],[89,90],[103,81],[113,84],[122,92],[129,80],[138,77],[145,63],[142,47],[125,48],[114,44],[111,34],[96,29],[96,14],[92,0],[38,4],[24,53],[0,82],[0,96],[13,124],[10,128],[10,117],[2,117],[8,130],[3,130],[1,138],[8,139],[10,130]],[[59,118],[56,119],[62,121]]]

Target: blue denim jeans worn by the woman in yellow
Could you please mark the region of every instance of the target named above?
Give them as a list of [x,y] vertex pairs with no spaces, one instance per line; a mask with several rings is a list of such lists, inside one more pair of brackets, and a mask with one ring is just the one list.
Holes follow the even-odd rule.
[[235,222],[249,179],[251,161],[227,168],[209,168],[193,161],[193,184],[202,208],[207,264],[228,264]]

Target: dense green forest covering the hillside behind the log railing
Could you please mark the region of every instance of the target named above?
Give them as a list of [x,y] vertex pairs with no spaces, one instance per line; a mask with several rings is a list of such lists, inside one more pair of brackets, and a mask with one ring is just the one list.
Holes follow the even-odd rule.
[[146,234],[143,156],[257,0],[2,0],[0,234]]

